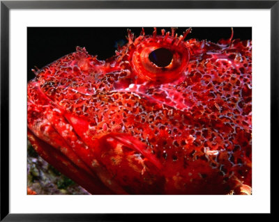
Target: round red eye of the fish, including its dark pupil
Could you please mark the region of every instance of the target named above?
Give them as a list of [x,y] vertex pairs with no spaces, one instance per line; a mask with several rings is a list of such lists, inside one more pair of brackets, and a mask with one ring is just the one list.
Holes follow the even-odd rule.
[[190,59],[184,42],[166,35],[140,36],[130,50],[130,64],[139,82],[175,81],[185,74]]

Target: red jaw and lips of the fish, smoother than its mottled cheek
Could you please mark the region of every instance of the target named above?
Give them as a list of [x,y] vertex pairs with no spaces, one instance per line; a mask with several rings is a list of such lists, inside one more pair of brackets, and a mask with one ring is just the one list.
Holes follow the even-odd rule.
[[163,166],[144,143],[117,133],[92,139],[90,123],[54,104],[38,82],[28,90],[29,141],[61,173],[90,193],[163,192]]

